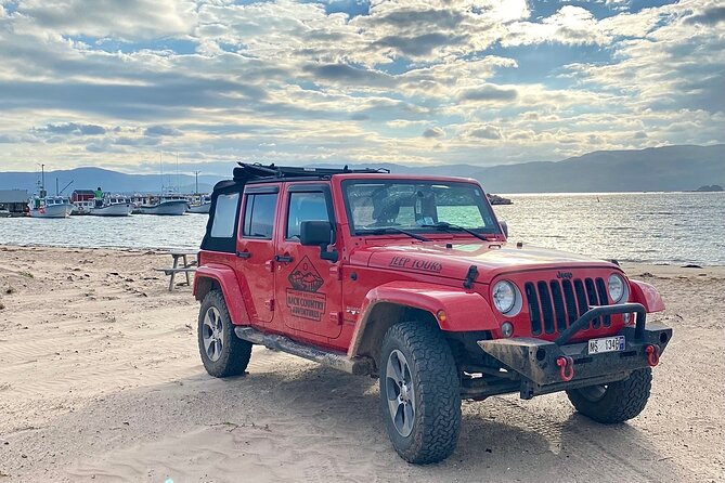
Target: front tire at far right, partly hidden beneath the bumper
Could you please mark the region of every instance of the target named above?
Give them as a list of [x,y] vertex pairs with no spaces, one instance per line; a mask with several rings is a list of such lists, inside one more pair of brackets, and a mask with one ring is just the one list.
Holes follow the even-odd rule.
[[569,401],[584,416],[605,425],[624,422],[637,416],[647,405],[652,387],[652,369],[636,369],[627,379],[611,382],[601,396],[593,388],[567,391]]

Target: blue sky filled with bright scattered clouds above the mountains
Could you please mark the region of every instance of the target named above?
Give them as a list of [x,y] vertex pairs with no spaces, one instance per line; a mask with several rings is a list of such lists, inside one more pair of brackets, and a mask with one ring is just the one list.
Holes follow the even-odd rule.
[[0,171],[723,142],[722,0],[0,0]]

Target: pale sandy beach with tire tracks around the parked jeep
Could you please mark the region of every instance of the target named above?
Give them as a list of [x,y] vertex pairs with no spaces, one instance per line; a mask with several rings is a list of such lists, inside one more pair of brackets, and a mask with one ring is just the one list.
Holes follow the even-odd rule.
[[209,377],[191,289],[153,270],[170,261],[0,247],[0,482],[725,481],[725,267],[625,266],[674,328],[639,417],[599,426],[564,394],[464,402],[457,451],[415,467],[371,378],[263,348],[247,376]]

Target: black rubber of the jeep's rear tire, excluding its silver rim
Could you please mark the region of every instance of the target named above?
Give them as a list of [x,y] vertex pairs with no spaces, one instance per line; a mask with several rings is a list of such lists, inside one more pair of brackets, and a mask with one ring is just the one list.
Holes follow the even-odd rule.
[[[222,349],[218,361],[211,361],[204,350],[203,325],[204,317],[209,308],[216,308],[219,311],[222,326]],[[204,297],[199,309],[198,324],[196,328],[199,355],[204,363],[204,368],[210,376],[229,377],[244,374],[251,356],[251,342],[242,340],[234,334],[234,325],[229,316],[224,295],[221,290],[211,290]]]

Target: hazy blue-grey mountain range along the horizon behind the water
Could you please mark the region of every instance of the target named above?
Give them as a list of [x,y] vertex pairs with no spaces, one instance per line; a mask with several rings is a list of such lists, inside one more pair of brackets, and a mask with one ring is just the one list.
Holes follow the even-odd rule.
[[[215,164],[218,165],[218,164]],[[315,165],[329,167],[331,165]],[[490,193],[571,193],[694,191],[702,185],[725,185],[725,144],[712,146],[665,146],[640,151],[597,151],[562,161],[533,161],[482,168],[474,165],[411,167],[394,164],[366,165],[387,168],[400,174],[439,174],[479,180]],[[224,171],[224,166],[219,167]],[[353,166],[351,166],[353,167]],[[222,178],[200,175],[199,191],[208,192]],[[194,177],[180,174],[126,174],[100,168],[77,168],[46,173],[46,186],[55,191],[74,181],[66,193],[76,188],[95,188],[118,193],[158,193],[161,186],[191,193]],[[0,190],[34,191],[35,172],[1,172]]]

